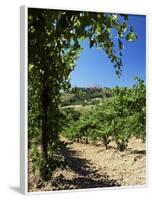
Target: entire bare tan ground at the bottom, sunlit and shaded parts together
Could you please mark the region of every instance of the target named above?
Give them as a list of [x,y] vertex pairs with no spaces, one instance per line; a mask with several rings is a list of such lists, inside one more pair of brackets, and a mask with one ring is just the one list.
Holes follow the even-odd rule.
[[67,143],[59,150],[66,167],[56,169],[47,182],[34,175],[29,161],[29,191],[52,191],[114,186],[134,186],[146,183],[146,148],[140,139],[131,139],[128,149],[120,152],[111,143],[109,149],[101,144]]

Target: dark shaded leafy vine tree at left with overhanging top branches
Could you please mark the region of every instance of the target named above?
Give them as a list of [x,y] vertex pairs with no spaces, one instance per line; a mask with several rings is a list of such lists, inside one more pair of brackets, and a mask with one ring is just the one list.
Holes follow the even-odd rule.
[[[44,172],[42,178],[54,169],[49,163],[54,158],[62,125],[61,94],[70,87],[69,74],[82,51],[80,41],[89,39],[90,48],[102,48],[120,76],[122,39],[136,39],[127,18],[107,13],[28,9],[28,141],[29,147],[33,142],[41,143],[42,152],[37,156],[41,163],[38,168]],[[113,29],[119,50],[114,44]],[[33,163],[37,161],[33,159]]]

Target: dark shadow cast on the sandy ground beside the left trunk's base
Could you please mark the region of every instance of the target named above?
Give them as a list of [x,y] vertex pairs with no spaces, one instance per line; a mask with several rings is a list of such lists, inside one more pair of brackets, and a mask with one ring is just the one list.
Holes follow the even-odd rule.
[[53,190],[85,189],[120,186],[116,180],[110,180],[106,174],[101,175],[87,159],[79,157],[78,153],[68,145],[61,145],[58,154],[64,157],[66,169],[75,172],[76,177],[67,179],[60,174],[51,181]]

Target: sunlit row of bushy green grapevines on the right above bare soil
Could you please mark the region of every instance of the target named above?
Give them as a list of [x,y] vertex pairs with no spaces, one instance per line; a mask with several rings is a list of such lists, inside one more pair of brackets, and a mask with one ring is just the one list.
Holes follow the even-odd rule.
[[146,88],[144,81],[136,80],[132,88],[114,88],[111,98],[81,115],[76,122],[71,120],[63,130],[64,136],[78,142],[101,140],[106,148],[114,140],[120,151],[127,148],[130,137],[144,141]]

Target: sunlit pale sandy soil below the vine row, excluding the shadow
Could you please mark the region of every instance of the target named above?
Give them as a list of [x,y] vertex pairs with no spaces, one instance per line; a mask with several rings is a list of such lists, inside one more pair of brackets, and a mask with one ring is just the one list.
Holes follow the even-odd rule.
[[[114,145],[113,145],[114,146]],[[132,139],[128,150],[120,152],[104,146],[73,143],[69,147],[78,152],[79,157],[90,161],[99,173],[106,173],[121,185],[142,185],[145,183],[145,144]]]

